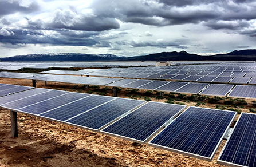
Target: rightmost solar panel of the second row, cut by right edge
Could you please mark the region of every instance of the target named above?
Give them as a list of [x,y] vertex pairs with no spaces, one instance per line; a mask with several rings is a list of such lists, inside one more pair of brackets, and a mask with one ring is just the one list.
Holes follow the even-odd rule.
[[237,85],[230,92],[228,97],[247,97],[256,98],[256,86],[249,85]]

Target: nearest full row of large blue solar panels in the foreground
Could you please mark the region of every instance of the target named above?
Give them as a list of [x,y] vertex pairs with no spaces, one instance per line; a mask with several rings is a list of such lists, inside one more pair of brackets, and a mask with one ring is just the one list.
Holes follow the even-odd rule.
[[[182,112],[184,105],[41,88],[1,97],[0,106],[141,144],[166,127],[149,146],[207,161],[212,160],[237,114],[191,106]],[[255,114],[241,114],[218,158],[220,164],[254,165],[255,121]]]

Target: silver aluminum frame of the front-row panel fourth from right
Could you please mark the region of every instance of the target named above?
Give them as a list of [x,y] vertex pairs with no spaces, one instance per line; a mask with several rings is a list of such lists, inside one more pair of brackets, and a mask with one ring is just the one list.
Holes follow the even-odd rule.
[[[117,98],[117,97],[116,97],[116,98]],[[115,98],[115,99],[116,99],[116,98]],[[120,97],[119,97],[119,98],[120,98]],[[115,100],[115,99],[113,99],[113,100]],[[125,98],[125,99],[128,99],[128,98]],[[111,100],[111,101],[113,101],[113,100]],[[108,102],[111,102],[111,101],[108,101]],[[138,100],[138,101],[144,101],[144,100]],[[108,104],[108,102],[105,102],[104,104]],[[93,132],[99,132],[100,130],[106,128],[107,126],[109,126],[109,125],[111,125],[111,124],[113,124],[113,123],[116,122],[117,120],[119,120],[119,119],[121,119],[121,118],[127,116],[129,113],[133,112],[133,111],[136,110],[137,108],[140,108],[141,106],[143,106],[143,105],[146,104],[146,103],[147,103],[147,101],[144,101],[143,104],[140,104],[140,105],[136,106],[135,108],[133,108],[133,109],[131,109],[131,110],[128,110],[126,113],[124,113],[124,114],[122,114],[121,116],[115,118],[115,119],[112,120],[111,122],[108,122],[107,124],[101,126],[101,128],[99,128],[99,129],[89,128],[89,127],[81,126],[81,125],[77,125],[77,124],[72,124],[72,123],[66,122],[66,121],[71,120],[71,119],[74,118],[74,117],[80,116],[81,114],[84,114],[84,113],[86,113],[86,112],[89,112],[90,110],[96,109],[96,108],[98,108],[99,106],[102,106],[102,105],[104,105],[104,104],[101,104],[101,105],[96,106],[96,107],[94,107],[94,108],[92,108],[92,109],[86,110],[86,112],[83,112],[83,113],[81,113],[81,114],[78,114],[77,116],[74,116],[74,117],[72,117],[72,118],[69,118],[68,120],[65,120],[64,123],[67,124],[67,125],[76,126],[77,128],[82,128],[82,129],[90,130],[90,131],[93,131]],[[63,123],[63,122],[62,122],[62,123]]]

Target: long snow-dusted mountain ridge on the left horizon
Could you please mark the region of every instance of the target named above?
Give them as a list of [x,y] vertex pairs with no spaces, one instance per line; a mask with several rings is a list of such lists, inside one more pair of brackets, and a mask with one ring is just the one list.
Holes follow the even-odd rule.
[[0,58],[1,61],[121,61],[125,57],[113,54],[46,53],[16,55]]

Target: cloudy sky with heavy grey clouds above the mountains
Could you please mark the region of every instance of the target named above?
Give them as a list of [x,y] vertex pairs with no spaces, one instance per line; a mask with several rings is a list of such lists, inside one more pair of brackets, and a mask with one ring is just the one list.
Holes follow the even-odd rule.
[[1,0],[0,57],[256,49],[254,0]]

